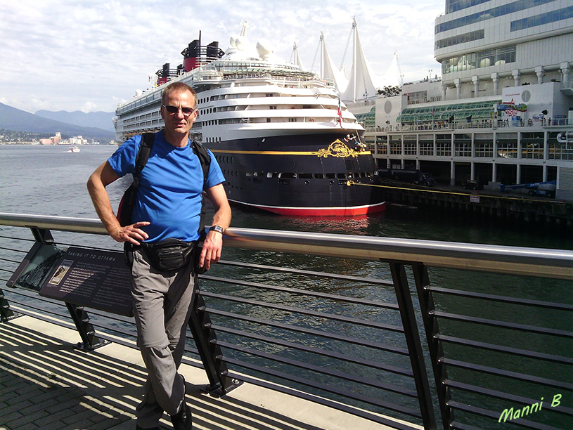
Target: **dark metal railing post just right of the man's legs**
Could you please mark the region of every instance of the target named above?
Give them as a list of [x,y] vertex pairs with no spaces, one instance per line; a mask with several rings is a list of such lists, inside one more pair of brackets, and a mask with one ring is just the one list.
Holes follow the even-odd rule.
[[193,294],[189,328],[209,379],[209,385],[205,387],[205,391],[212,396],[220,397],[235,389],[242,382],[227,376],[228,369],[223,360],[223,352],[217,345],[217,334],[211,327],[211,318],[205,308],[205,301],[200,294],[197,278],[195,278],[195,294]]

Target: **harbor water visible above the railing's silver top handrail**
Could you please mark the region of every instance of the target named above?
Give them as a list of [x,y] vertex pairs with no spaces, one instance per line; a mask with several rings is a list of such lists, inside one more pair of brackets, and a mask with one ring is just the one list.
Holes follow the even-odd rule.
[[[85,184],[115,146],[83,145],[80,152],[67,150],[66,145],[0,145],[0,211],[96,218]],[[108,187],[115,207],[130,181],[124,177]],[[444,218],[392,205],[385,214],[359,218],[288,217],[233,208],[231,226],[573,249],[570,237],[546,235],[542,228],[501,227],[495,221],[463,215]]]

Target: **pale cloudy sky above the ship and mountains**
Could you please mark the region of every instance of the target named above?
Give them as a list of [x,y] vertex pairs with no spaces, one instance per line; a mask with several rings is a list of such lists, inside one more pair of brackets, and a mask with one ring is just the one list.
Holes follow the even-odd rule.
[[[440,74],[434,20],[444,0],[0,0],[0,103],[27,112],[113,112],[164,63],[198,39],[226,49],[247,19],[247,38],[320,70],[323,32],[333,62],[352,67],[352,20],[375,74],[394,51],[404,82]],[[347,51],[345,55],[345,51]],[[344,61],[343,61],[344,60]],[[313,66],[314,67],[311,67]]]

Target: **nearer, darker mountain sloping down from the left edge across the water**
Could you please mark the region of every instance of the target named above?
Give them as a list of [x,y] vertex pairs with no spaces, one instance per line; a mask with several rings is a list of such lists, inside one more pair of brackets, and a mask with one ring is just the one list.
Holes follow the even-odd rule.
[[115,133],[112,131],[54,121],[53,119],[40,117],[3,103],[0,103],[0,129],[51,134],[59,131],[62,133],[63,138],[83,136],[96,141],[109,141],[115,138]]

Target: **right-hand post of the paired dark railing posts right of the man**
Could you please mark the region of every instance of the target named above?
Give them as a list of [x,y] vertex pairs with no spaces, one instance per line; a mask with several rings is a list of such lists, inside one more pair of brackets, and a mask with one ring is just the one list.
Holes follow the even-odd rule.
[[454,420],[454,415],[453,409],[448,406],[451,393],[449,387],[444,384],[444,381],[448,378],[448,374],[446,367],[440,360],[444,357],[444,351],[442,350],[441,341],[437,339],[439,327],[437,318],[434,316],[434,299],[432,298],[432,292],[426,289],[426,287],[430,286],[430,278],[427,275],[427,269],[423,263],[413,264],[412,270],[414,279],[416,280],[416,289],[418,290],[418,299],[422,311],[427,346],[430,349],[430,359],[432,360],[442,424],[444,425],[444,430],[448,430],[451,422]]

